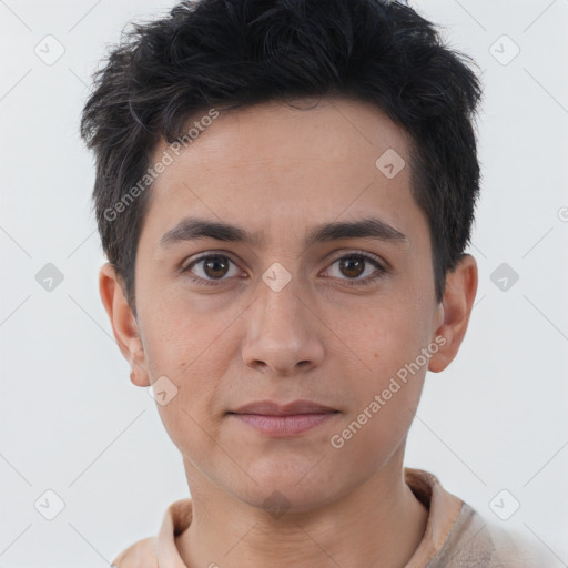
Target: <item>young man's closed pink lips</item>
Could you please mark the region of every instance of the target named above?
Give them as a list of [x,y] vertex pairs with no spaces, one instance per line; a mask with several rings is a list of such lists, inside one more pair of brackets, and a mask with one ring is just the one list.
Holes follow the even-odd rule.
[[295,400],[286,405],[260,400],[227,414],[260,434],[277,438],[304,434],[338,416],[341,412],[311,400]]

